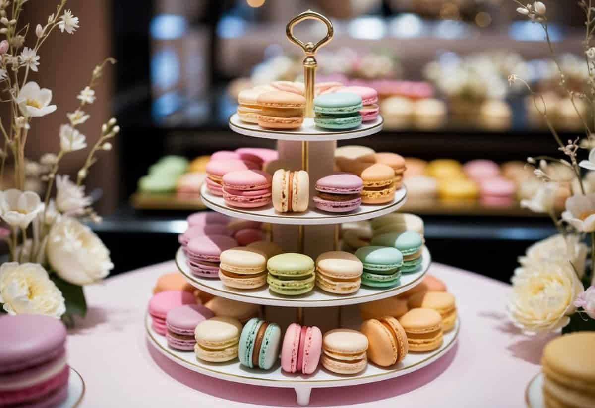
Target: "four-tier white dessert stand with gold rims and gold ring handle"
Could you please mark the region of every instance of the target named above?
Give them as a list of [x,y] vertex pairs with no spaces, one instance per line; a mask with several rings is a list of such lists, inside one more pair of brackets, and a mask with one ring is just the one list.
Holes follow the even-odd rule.
[[[317,44],[303,43],[293,36],[293,26],[300,21],[312,18],[320,20],[327,26],[327,36]],[[279,158],[287,163],[288,168],[302,168],[309,172],[311,180],[311,197],[314,196],[314,184],[318,178],[333,172],[334,150],[337,140],[355,139],[369,136],[381,130],[383,119],[379,116],[371,123],[365,123],[348,131],[325,131],[314,124],[314,73],[316,60],[314,54],[320,46],[330,41],[333,36],[333,26],[324,16],[306,11],[293,18],[287,24],[287,37],[293,43],[301,46],[306,53],[304,61],[306,83],[306,117],[302,128],[296,131],[265,130],[258,125],[242,123],[236,114],[229,119],[230,128],[237,133],[251,137],[277,139]],[[201,192],[203,203],[214,211],[236,218],[267,222],[272,225],[271,238],[286,252],[300,252],[316,259],[322,252],[339,249],[339,228],[342,222],[363,221],[396,211],[405,203],[405,188],[397,190],[392,202],[384,205],[362,205],[356,211],[347,214],[328,214],[318,211],[314,207],[303,213],[275,212],[272,205],[258,209],[236,209],[227,206],[221,197],[209,194],[203,187]],[[316,324],[325,329],[334,327],[359,328],[359,303],[396,296],[421,282],[431,262],[430,251],[423,249],[423,263],[418,272],[403,274],[400,284],[392,288],[361,287],[359,291],[349,295],[327,293],[316,287],[310,293],[302,296],[281,296],[275,294],[268,287],[254,290],[238,290],[223,285],[220,280],[196,277],[186,263],[186,255],[180,249],[176,254],[176,263],[184,277],[190,284],[205,292],[239,300],[241,302],[264,305],[265,318],[275,321],[273,316],[280,316],[290,310],[292,321],[300,324]],[[288,309],[292,308],[292,309]],[[295,313],[295,314],[293,314]],[[156,350],[164,354],[173,362],[203,375],[213,376],[227,381],[242,382],[243,384],[265,385],[268,387],[295,388],[297,402],[301,405],[309,403],[312,388],[341,387],[346,385],[366,384],[368,382],[383,381],[400,375],[409,374],[427,366],[450,350],[458,337],[459,321],[455,328],[444,334],[442,346],[427,353],[409,353],[405,359],[389,368],[381,368],[369,363],[367,368],[356,375],[340,375],[327,371],[321,366],[312,375],[289,374],[281,370],[280,364],[268,371],[249,369],[240,365],[239,361],[227,363],[209,363],[196,358],[193,352],[171,349],[167,346],[165,337],[151,328],[151,318],[146,315],[146,331],[149,340]]]

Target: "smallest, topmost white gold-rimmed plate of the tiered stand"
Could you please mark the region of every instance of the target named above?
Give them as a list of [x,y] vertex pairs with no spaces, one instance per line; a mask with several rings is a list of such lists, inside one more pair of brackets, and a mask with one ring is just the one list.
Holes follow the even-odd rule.
[[326,142],[328,140],[357,139],[358,137],[369,136],[382,130],[383,118],[378,117],[353,129],[347,130],[325,130],[314,124],[313,118],[304,118],[302,127],[296,130],[280,131],[268,130],[259,125],[242,122],[237,114],[229,118],[229,127],[236,133],[252,137],[263,137],[264,139],[275,140],[305,140],[308,142]]

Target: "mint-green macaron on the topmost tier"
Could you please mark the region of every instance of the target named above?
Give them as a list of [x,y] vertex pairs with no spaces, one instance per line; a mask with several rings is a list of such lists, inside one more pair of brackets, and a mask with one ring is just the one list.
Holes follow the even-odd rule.
[[362,124],[362,98],[356,93],[336,92],[314,98],[314,123],[321,128],[343,130]]

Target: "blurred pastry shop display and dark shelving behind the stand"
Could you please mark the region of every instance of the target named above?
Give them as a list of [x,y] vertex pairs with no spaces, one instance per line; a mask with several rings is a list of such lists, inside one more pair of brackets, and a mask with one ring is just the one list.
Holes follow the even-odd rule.
[[[578,87],[587,76],[583,15],[575,2],[546,5],[552,42],[568,82]],[[29,7],[30,21],[54,7]],[[559,87],[543,30],[516,13],[512,0],[70,0],[68,8],[81,27],[76,35],[51,37],[35,78],[54,90],[58,111],[39,120],[27,155],[39,159],[57,149],[58,127],[76,104],[74,95],[96,64],[115,57],[118,64],[107,70],[89,109],[92,120],[83,127],[91,140],[109,115],[122,128],[87,187],[101,198],[104,222],[92,227],[112,252],[113,273],[172,259],[186,216],[203,208],[192,176],[181,182],[183,174],[171,175],[158,189],[139,187],[151,165],[165,155],[192,161],[221,149],[274,147],[272,140],[234,134],[227,118],[240,90],[300,80],[303,55],[284,32],[287,21],[308,8],[330,18],[335,29],[318,54],[317,80],[365,84],[381,98],[384,130],[356,142],[420,159],[409,161],[403,211],[424,219],[436,261],[508,281],[525,247],[555,233],[547,215],[519,206],[537,183],[519,164],[527,156],[552,155],[557,145],[527,90],[509,86],[509,74],[543,92],[563,140],[574,139],[581,127]],[[315,22],[295,31],[305,39],[324,32]],[[513,191],[498,200],[481,193],[445,197],[437,185],[448,180],[424,170],[425,162],[443,158],[494,161]],[[587,175],[587,183],[594,182]],[[571,189],[560,184],[559,206]]]

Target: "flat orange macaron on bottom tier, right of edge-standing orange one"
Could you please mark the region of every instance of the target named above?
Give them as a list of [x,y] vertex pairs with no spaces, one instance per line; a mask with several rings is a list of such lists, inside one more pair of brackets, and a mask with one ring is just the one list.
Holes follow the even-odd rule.
[[431,351],[443,341],[442,318],[433,309],[411,309],[401,316],[399,323],[407,334],[409,351]]

